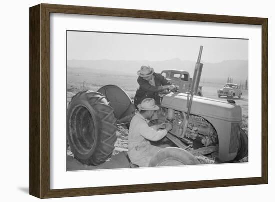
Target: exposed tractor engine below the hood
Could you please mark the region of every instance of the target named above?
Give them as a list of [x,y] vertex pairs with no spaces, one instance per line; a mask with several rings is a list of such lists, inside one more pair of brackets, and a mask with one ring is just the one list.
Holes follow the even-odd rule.
[[203,117],[190,115],[187,130],[183,134],[185,112],[168,109],[167,121],[173,123],[171,133],[181,139],[195,142],[196,147],[207,147],[218,144],[218,136],[214,127]]

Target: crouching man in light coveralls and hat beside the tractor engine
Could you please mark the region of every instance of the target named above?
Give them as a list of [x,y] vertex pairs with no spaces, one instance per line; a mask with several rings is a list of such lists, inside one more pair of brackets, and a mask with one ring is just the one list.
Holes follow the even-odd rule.
[[159,109],[153,98],[145,98],[137,107],[139,112],[136,113],[130,123],[128,156],[131,163],[139,167],[148,167],[153,155],[161,149],[151,145],[150,141],[158,141],[165,137],[167,132],[172,129],[172,125],[162,123],[149,127],[149,119]]

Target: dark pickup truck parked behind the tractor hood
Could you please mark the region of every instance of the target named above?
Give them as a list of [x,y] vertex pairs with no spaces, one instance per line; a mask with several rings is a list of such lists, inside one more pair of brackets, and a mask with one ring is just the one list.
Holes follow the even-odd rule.
[[[184,70],[163,70],[161,74],[174,85],[179,86],[181,93],[187,93],[191,88],[192,78],[190,78],[189,72]],[[198,87],[196,95],[203,96],[202,86]]]

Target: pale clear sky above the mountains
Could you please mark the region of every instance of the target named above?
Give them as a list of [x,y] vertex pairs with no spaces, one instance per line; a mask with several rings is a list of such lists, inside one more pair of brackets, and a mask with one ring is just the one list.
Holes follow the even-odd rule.
[[68,31],[67,59],[196,61],[202,45],[204,62],[248,60],[248,42],[245,39]]

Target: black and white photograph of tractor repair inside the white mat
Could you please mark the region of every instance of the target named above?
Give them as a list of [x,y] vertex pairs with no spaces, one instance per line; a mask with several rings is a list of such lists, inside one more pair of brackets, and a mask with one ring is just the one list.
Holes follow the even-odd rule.
[[249,39],[66,31],[66,171],[248,163]]

